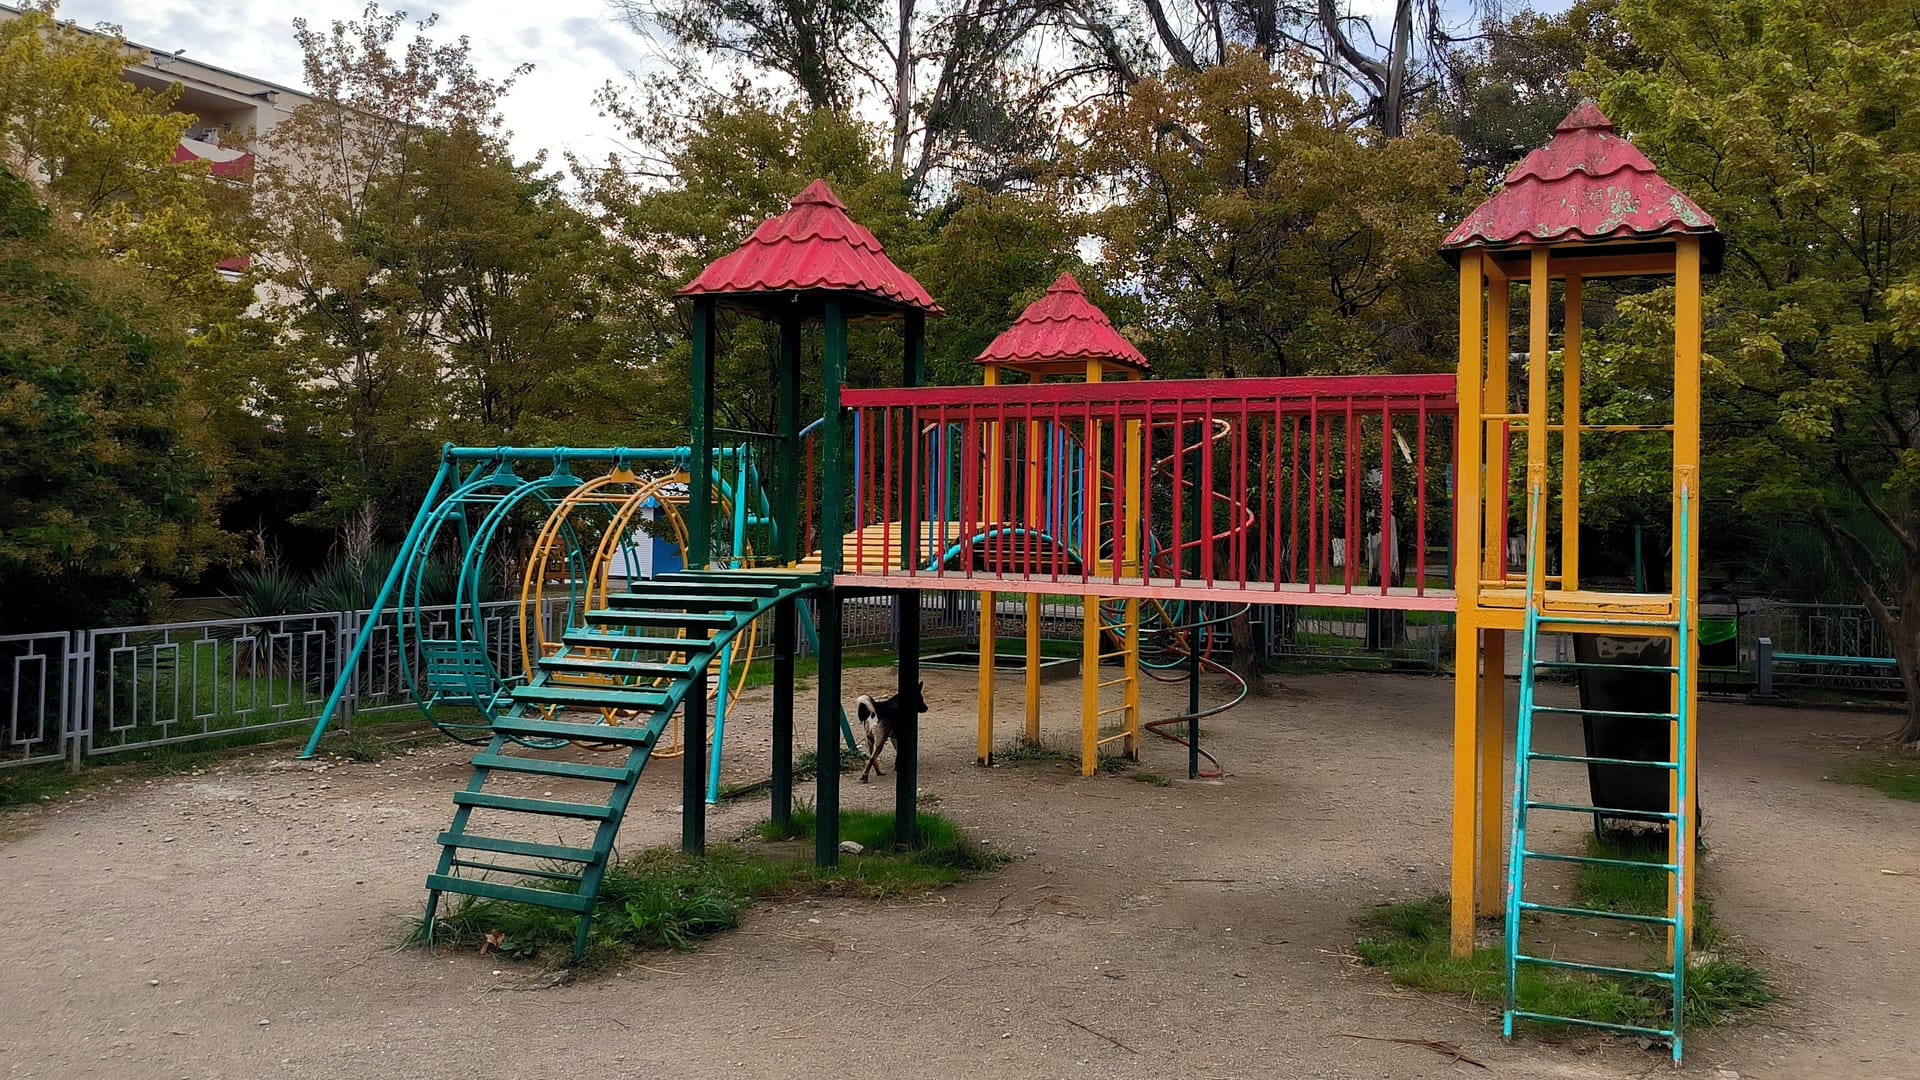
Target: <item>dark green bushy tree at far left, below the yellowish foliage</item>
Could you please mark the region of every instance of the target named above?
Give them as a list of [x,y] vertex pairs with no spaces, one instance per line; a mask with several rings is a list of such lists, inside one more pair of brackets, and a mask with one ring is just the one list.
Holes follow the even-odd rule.
[[215,452],[177,369],[184,334],[0,169],[0,628],[140,621],[221,548]]

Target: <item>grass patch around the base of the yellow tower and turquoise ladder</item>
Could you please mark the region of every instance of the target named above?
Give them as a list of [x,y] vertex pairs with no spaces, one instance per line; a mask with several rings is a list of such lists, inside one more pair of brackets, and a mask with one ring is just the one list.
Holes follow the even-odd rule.
[[[1699,909],[1711,911],[1705,901]],[[1503,1005],[1505,947],[1475,949],[1469,957],[1452,955],[1450,913],[1452,905],[1444,896],[1375,907],[1359,919],[1361,938],[1354,951],[1363,963],[1386,970],[1400,986],[1459,994],[1476,1005]],[[1709,919],[1703,917],[1701,942],[1720,942],[1718,930],[1705,930]],[[1688,969],[1688,1026],[1724,1024],[1772,999],[1759,970],[1720,953],[1695,953]],[[1665,986],[1653,980],[1540,967],[1519,970],[1515,1001],[1530,1013],[1636,1026],[1665,1026],[1668,1009]]]

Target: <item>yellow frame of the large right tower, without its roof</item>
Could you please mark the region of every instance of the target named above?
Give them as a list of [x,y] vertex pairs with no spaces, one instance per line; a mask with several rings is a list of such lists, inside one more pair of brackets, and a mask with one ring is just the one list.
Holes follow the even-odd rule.
[[[1559,513],[1559,573],[1536,567],[1534,588],[1542,611],[1561,617],[1655,617],[1674,619],[1680,596],[1672,582],[1686,582],[1686,609],[1699,594],[1699,352],[1701,263],[1699,234],[1645,236],[1605,242],[1565,242],[1459,252],[1459,471],[1455,482],[1455,559],[1459,621],[1453,653],[1453,953],[1473,949],[1475,915],[1501,907],[1505,886],[1505,767],[1507,692],[1505,634],[1524,623],[1526,582],[1509,565],[1505,527],[1524,521],[1524,494],[1513,490],[1509,454],[1524,440],[1526,477],[1546,484],[1559,465],[1555,494]],[[1580,319],[1584,281],[1596,277],[1670,277],[1674,281],[1674,382],[1668,425],[1590,425],[1580,413]],[[1553,356],[1553,282],[1561,282],[1563,331],[1561,415],[1549,411]],[[1515,411],[1509,388],[1511,304],[1524,292],[1524,411]],[[1505,361],[1503,361],[1505,359]],[[1538,438],[1534,438],[1538,432]],[[1672,527],[1680,536],[1680,503],[1692,498],[1688,525],[1693,536],[1674,544],[1667,594],[1594,592],[1580,588],[1580,436],[1584,432],[1642,432],[1672,436]],[[1557,440],[1553,436],[1559,436]],[[1559,459],[1551,461],[1551,452]],[[1509,517],[1511,515],[1511,517]],[[1542,521],[1542,527],[1548,523]],[[1546,550],[1546,544],[1542,544]],[[1686,565],[1682,565],[1682,559]],[[1657,630],[1645,630],[1659,636]],[[1697,667],[1697,650],[1693,650]],[[1695,673],[1688,673],[1688,686]],[[1692,703],[1688,703],[1692,709]],[[1674,701],[1674,711],[1680,701]],[[1690,724],[1690,738],[1699,726]],[[1688,748],[1688,790],[1695,792]],[[1670,844],[1693,851],[1693,815],[1686,834]],[[1678,853],[1678,851],[1676,851]],[[1688,859],[1692,863],[1692,859]],[[1693,878],[1680,876],[1674,903],[1692,911]],[[1688,920],[1692,924],[1692,919]]]

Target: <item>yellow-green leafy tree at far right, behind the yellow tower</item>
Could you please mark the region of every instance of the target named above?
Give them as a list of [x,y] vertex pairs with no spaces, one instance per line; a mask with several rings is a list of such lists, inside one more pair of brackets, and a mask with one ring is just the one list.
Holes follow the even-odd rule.
[[[1596,65],[1605,104],[1726,233],[1707,296],[1707,498],[1818,530],[1895,644],[1899,738],[1920,744],[1912,4],[1622,0],[1620,21],[1645,61]],[[1657,327],[1628,319],[1619,348],[1657,350]]]

